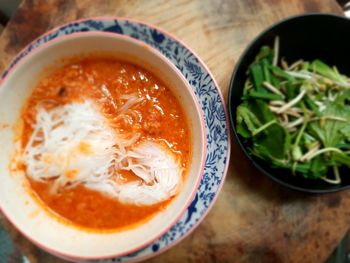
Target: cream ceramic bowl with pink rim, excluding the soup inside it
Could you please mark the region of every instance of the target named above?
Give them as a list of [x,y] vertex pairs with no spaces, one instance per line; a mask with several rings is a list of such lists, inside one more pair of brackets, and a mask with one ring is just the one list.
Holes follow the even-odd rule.
[[[192,133],[191,166],[175,200],[148,222],[113,233],[87,232],[59,222],[32,198],[24,173],[10,169],[20,129],[20,113],[43,70],[59,65],[62,58],[97,52],[110,53],[138,64],[163,80],[178,97]],[[57,256],[88,260],[131,253],[159,238],[186,211],[203,175],[206,152],[204,129],[201,108],[186,79],[152,47],[111,33],[88,32],[59,37],[21,59],[0,83],[0,208],[26,237]]]

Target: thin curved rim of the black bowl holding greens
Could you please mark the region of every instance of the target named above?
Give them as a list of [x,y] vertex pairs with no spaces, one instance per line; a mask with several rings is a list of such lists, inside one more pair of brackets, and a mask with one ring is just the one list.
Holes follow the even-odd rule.
[[230,124],[231,124],[231,128],[234,134],[234,137],[236,139],[236,141],[238,142],[241,150],[243,151],[244,155],[249,159],[249,161],[255,166],[255,168],[257,168],[257,170],[259,170],[262,174],[266,175],[268,178],[272,179],[274,182],[277,182],[289,189],[295,190],[295,191],[299,191],[299,192],[304,192],[304,193],[310,193],[310,194],[327,194],[327,193],[334,193],[334,192],[339,192],[339,191],[343,191],[346,189],[350,188],[350,184],[349,185],[345,185],[345,186],[341,186],[338,188],[330,188],[330,189],[309,189],[309,188],[305,188],[305,187],[301,187],[301,186],[295,186],[295,185],[291,185],[289,183],[286,183],[285,181],[283,181],[282,179],[279,179],[276,176],[273,176],[271,173],[267,172],[263,167],[261,167],[254,159],[253,157],[248,153],[246,147],[244,146],[241,138],[239,137],[237,130],[236,130],[236,120],[233,119],[233,102],[231,100],[231,98],[233,97],[233,89],[234,89],[234,82],[236,80],[236,76],[237,76],[237,71],[238,68],[241,66],[243,60],[245,59],[246,55],[249,53],[249,51],[251,50],[251,48],[255,45],[256,42],[258,42],[261,38],[263,38],[266,34],[268,34],[270,31],[272,31],[273,29],[275,29],[276,27],[289,23],[290,21],[294,21],[294,20],[298,20],[298,19],[302,19],[302,18],[307,18],[307,17],[328,17],[328,18],[334,18],[334,19],[339,19],[339,20],[343,20],[343,21],[347,21],[350,23],[349,18],[341,16],[341,15],[336,15],[336,14],[331,14],[331,13],[308,13],[308,14],[299,14],[299,15],[294,15],[294,16],[289,16],[286,17],[284,19],[281,19],[275,23],[273,23],[272,25],[268,26],[267,28],[265,28],[264,30],[262,30],[257,36],[255,36],[253,38],[253,40],[251,40],[248,44],[248,46],[243,50],[243,53],[240,55],[239,59],[237,60],[237,63],[235,64],[234,70],[232,72],[232,76],[231,76],[231,80],[229,83],[229,90],[228,90],[228,111],[229,111],[229,118],[230,118]]

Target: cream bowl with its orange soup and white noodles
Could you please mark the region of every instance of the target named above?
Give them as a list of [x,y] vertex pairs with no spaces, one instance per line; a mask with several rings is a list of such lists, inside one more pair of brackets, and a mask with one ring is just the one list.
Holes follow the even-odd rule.
[[74,33],[0,83],[0,208],[71,260],[125,255],[173,226],[203,175],[201,108],[178,69],[130,37]]

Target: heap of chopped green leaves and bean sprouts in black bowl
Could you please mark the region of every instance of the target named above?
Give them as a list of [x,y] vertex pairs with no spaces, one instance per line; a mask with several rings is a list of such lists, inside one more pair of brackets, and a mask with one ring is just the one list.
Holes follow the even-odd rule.
[[278,43],[249,67],[237,132],[274,167],[340,183],[350,167],[350,79],[319,59],[276,64]]

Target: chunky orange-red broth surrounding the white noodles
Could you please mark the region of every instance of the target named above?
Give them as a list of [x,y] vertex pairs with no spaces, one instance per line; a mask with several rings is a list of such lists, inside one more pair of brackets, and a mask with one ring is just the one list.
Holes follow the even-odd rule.
[[[108,92],[102,90],[103,85]],[[144,98],[144,103],[134,107],[141,118],[115,121],[113,128],[122,134],[138,132],[141,134],[139,141],[150,139],[168,144],[172,152],[181,158],[186,174],[191,155],[190,131],[177,98],[147,70],[108,57],[74,58],[41,79],[22,113],[22,147],[32,134],[38,103],[48,101],[56,107],[91,99],[100,106],[105,116],[113,118],[117,114],[113,103],[119,108],[124,103],[119,98],[126,94],[138,94]],[[131,227],[150,219],[173,199],[151,206],[123,204],[83,185],[52,194],[51,182],[37,182],[27,177],[34,195],[46,208],[64,221],[88,229]],[[121,174],[125,182],[135,178],[132,172]]]

